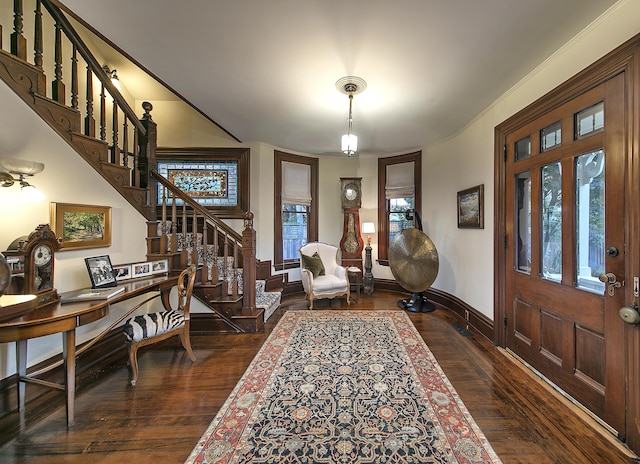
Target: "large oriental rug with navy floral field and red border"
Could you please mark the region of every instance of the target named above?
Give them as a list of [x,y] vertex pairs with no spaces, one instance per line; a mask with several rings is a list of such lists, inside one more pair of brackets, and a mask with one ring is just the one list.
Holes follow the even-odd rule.
[[289,311],[188,457],[500,463],[406,313]]

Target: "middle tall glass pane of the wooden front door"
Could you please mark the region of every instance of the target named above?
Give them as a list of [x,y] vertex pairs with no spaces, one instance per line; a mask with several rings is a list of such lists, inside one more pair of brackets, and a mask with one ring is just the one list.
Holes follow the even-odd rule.
[[542,277],[562,281],[562,169],[559,162],[542,167],[540,244]]

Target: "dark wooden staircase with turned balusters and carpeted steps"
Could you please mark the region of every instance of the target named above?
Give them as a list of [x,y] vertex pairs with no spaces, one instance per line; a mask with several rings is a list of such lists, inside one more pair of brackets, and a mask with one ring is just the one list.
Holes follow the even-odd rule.
[[[25,20],[24,11],[33,16]],[[3,24],[13,25],[9,50],[2,44]],[[45,50],[53,50],[53,58],[44,60]],[[147,259],[168,259],[172,273],[197,264],[193,294],[211,309],[200,321],[205,330],[262,329],[283,282],[271,275],[269,262],[256,260],[253,214],[246,212],[238,234],[155,171],[151,104],[143,103],[138,118],[54,0],[14,0],[13,17],[0,17],[0,79],[147,219]]]

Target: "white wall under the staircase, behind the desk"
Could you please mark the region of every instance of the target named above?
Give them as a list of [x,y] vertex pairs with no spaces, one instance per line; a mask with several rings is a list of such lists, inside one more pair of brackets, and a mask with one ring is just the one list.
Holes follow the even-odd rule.
[[[113,264],[143,261],[146,223],[113,187],[73,151],[4,83],[0,83],[0,156],[45,163],[42,173],[29,179],[46,196],[24,203],[14,184],[0,189],[0,251],[39,224],[50,222],[49,203],[79,203],[111,207],[112,244],[106,248],[59,251],[55,259],[55,286],[59,292],[90,286],[84,258],[108,254]],[[102,325],[110,322],[107,318]],[[99,331],[91,324],[79,331],[79,343]],[[29,342],[29,365],[62,349],[62,337],[52,335]],[[0,378],[15,372],[14,343],[0,344]]]

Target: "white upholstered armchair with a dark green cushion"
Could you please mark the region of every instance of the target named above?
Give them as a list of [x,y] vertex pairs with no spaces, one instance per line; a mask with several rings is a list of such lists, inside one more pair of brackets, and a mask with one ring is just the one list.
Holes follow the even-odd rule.
[[313,300],[318,298],[346,296],[349,304],[349,277],[346,268],[338,263],[338,247],[313,242],[301,246],[299,253],[302,287],[309,298],[309,309],[313,309]]

